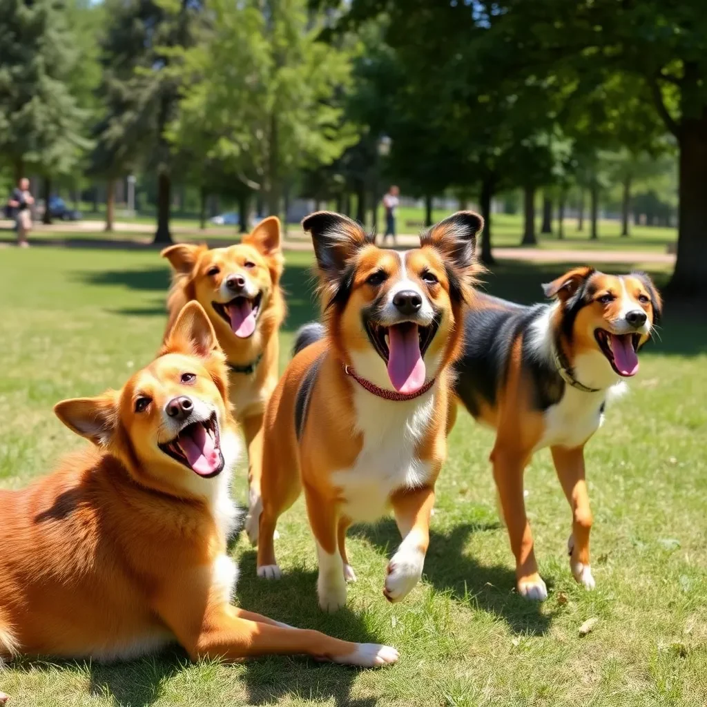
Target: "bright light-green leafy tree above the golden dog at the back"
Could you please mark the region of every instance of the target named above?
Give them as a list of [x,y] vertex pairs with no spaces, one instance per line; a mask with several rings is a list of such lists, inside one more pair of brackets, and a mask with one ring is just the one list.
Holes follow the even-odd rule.
[[305,0],[214,0],[210,10],[208,42],[180,53],[189,90],[175,144],[189,140],[185,126],[201,122],[218,136],[208,156],[232,162],[278,214],[297,170],[332,163],[356,141],[341,108],[349,51],[318,39],[322,17],[308,13]]

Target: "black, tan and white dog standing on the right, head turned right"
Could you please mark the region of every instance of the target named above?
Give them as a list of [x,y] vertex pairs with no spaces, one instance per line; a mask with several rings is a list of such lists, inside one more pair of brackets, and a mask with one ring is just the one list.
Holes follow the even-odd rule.
[[[660,318],[660,295],[643,273],[613,276],[579,267],[544,286],[554,301],[525,307],[479,295],[465,322],[455,392],[496,429],[493,478],[515,555],[518,592],[544,600],[525,515],[523,472],[549,447],[572,508],[568,540],[575,580],[593,589],[592,513],[584,445],[602,423],[617,383],[638,371],[638,351]],[[622,384],[621,384],[622,385]],[[450,428],[454,413],[450,415]]]

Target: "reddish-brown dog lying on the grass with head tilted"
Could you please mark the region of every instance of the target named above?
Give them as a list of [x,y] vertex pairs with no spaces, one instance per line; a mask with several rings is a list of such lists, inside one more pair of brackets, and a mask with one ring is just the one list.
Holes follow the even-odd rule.
[[192,659],[307,653],[375,666],[397,651],[293,629],[230,604],[228,493],[240,441],[227,368],[199,303],[122,390],[54,408],[93,443],[23,491],[0,491],[0,658]]

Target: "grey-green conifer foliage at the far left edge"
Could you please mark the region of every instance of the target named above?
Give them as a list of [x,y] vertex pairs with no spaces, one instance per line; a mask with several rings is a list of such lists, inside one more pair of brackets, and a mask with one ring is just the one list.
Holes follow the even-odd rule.
[[71,93],[76,42],[59,0],[0,0],[0,155],[18,179],[69,173],[88,142]]

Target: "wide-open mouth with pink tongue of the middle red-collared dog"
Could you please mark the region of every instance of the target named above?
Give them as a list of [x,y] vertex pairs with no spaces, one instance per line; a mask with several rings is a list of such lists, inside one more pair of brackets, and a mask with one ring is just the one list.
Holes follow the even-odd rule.
[[414,393],[425,384],[423,356],[438,327],[434,320],[428,327],[415,322],[400,322],[390,327],[366,322],[368,338],[385,361],[388,378],[398,392]]

